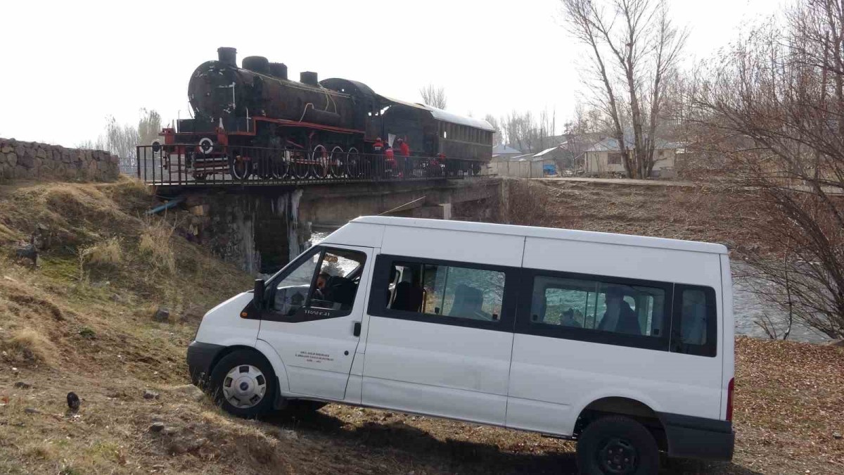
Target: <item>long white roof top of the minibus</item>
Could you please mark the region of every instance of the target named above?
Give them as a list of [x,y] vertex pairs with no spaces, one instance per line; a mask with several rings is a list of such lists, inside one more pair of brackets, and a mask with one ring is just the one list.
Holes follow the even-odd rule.
[[[361,216],[349,221],[349,223],[420,227],[426,229],[445,229],[463,232],[485,232],[490,234],[525,236],[527,238],[566,239],[570,241],[585,241],[587,243],[607,243],[625,246],[638,246],[643,248],[663,248],[710,254],[727,254],[727,247],[722,244],[681,241],[679,239],[649,238],[645,236],[614,234],[610,232],[575,231],[571,229],[559,229],[552,227],[514,226],[485,222],[429,220],[420,218],[398,218],[392,216]],[[329,238],[331,238],[331,236],[329,236]]]

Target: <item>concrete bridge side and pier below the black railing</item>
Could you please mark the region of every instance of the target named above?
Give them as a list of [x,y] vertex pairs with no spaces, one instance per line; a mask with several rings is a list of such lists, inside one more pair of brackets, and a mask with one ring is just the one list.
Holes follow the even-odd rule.
[[[311,227],[335,228],[358,216],[484,219],[497,209],[495,178],[441,182],[310,185],[304,188],[190,189],[195,238],[252,274],[279,270],[304,250]],[[479,211],[479,212],[478,212]]]

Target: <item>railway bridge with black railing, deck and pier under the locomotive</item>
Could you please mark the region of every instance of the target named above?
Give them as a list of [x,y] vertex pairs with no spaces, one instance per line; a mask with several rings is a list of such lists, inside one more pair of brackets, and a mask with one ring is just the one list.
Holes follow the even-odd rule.
[[357,216],[492,218],[503,192],[484,162],[442,157],[254,153],[251,163],[203,167],[150,147],[138,147],[138,157],[133,172],[165,200],[151,212],[187,207],[188,238],[254,274],[300,254],[311,232]]

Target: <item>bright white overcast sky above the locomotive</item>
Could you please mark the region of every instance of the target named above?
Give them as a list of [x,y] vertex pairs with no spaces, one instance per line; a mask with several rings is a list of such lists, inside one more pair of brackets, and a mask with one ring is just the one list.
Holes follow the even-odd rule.
[[[711,55],[780,0],[671,0],[689,58]],[[560,128],[583,90],[582,46],[559,0],[28,2],[0,8],[0,137],[66,146],[95,139],[106,116],[165,123],[188,116],[187,81],[218,46],[420,101],[446,88],[447,109],[475,117],[556,110]],[[694,61],[690,59],[689,61]]]

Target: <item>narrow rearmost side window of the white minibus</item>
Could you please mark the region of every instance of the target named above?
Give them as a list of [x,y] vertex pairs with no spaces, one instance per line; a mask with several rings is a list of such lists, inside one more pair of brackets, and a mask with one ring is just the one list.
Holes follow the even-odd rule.
[[677,285],[674,289],[671,351],[714,357],[717,350],[717,309],[711,287]]

